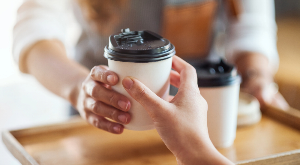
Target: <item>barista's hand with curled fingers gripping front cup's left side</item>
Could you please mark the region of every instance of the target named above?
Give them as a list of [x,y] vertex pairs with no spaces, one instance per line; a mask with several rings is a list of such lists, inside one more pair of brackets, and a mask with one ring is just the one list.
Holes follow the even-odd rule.
[[[81,85],[77,99],[77,110],[80,116],[91,125],[114,134],[123,132],[123,125],[130,122],[129,100],[111,90],[110,85],[119,81],[116,73],[107,66],[99,65],[91,69],[90,74]],[[104,117],[113,119],[111,122]]]

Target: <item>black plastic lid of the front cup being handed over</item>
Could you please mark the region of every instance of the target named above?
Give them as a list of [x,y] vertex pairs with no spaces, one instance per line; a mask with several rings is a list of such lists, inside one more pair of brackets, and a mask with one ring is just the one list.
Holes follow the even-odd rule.
[[175,47],[166,38],[149,30],[129,28],[110,36],[104,57],[123,62],[155,62],[175,55]]

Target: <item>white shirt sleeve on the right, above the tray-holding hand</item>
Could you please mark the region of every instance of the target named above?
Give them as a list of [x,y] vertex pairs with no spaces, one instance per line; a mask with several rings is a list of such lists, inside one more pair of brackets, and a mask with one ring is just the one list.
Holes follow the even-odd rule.
[[[277,71],[277,26],[274,2],[243,0],[245,12],[231,20],[226,44],[226,58],[234,62],[239,52],[257,52],[269,60],[269,67]],[[245,6],[247,5],[247,6]]]

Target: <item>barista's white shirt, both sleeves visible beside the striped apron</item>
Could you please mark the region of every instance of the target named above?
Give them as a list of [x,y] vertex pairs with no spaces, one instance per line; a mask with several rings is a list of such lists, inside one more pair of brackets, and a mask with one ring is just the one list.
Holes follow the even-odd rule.
[[[75,47],[79,36],[78,27],[87,29],[88,24],[85,22],[82,14],[80,14],[79,7],[72,5],[74,4],[73,2],[71,0],[24,1],[18,10],[17,23],[13,31],[13,56],[16,62],[19,62],[23,50],[40,40],[58,39],[65,44],[66,48]],[[139,3],[142,2],[139,1]],[[277,70],[279,58],[276,47],[277,26],[274,14],[274,1],[240,0],[240,2],[241,14],[238,15],[238,19],[229,19],[229,24],[227,25],[228,33],[226,34],[225,44],[227,60],[234,61],[238,52],[258,52],[269,59],[270,67],[273,70]],[[159,11],[156,12],[159,13]],[[74,23],[74,16],[79,20],[80,26],[76,26]],[[131,24],[133,23],[131,22]],[[77,29],[74,28],[75,26]],[[152,24],[145,24],[145,26],[149,27]],[[77,34],[74,34],[76,31]],[[86,32],[86,35],[92,36],[93,34]],[[93,49],[98,45],[104,47],[103,42],[102,40],[87,41],[88,44],[85,45],[90,47],[85,47],[87,47],[86,49]],[[96,44],[91,46],[93,43]]]

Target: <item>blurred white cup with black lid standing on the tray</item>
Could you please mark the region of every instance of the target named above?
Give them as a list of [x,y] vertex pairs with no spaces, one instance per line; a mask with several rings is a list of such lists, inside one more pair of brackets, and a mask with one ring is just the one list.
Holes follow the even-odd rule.
[[241,78],[232,65],[204,62],[195,66],[200,94],[208,104],[207,127],[216,148],[233,144],[238,117]]

